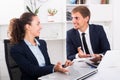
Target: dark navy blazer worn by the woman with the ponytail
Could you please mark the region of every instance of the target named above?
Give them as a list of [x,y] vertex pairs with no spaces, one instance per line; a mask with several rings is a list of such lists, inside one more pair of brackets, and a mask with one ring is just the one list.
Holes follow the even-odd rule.
[[11,48],[11,56],[22,71],[21,80],[38,80],[38,77],[53,72],[54,65],[50,62],[46,42],[44,40],[38,40],[38,42],[40,43],[39,49],[41,50],[46,62],[46,66],[44,67],[39,66],[35,56],[24,40]]

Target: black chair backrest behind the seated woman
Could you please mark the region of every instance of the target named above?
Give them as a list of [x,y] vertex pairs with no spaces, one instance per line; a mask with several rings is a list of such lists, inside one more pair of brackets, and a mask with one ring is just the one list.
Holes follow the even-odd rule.
[[21,71],[10,55],[10,48],[13,46],[8,39],[4,40],[5,60],[10,76],[10,80],[21,80]]

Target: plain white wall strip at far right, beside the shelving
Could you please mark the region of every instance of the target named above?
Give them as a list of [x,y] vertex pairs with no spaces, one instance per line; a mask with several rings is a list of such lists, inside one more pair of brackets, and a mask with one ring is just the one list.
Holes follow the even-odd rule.
[[113,48],[120,50],[120,0],[112,0],[113,4]]

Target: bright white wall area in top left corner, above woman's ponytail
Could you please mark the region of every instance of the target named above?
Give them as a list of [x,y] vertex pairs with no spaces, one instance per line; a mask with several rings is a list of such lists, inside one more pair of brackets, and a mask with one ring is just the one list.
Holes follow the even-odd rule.
[[13,17],[19,17],[24,11],[23,0],[3,0],[0,2],[0,24],[8,24]]

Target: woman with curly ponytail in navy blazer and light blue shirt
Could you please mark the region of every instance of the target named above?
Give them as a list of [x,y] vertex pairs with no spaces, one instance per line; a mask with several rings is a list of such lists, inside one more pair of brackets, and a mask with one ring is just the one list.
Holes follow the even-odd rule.
[[[37,80],[38,77],[52,72],[68,72],[61,63],[51,64],[47,45],[37,37],[41,25],[37,15],[23,13],[20,18],[12,19],[9,25],[10,41],[14,46],[10,53],[22,71],[21,80]],[[66,61],[65,66],[72,65]]]

